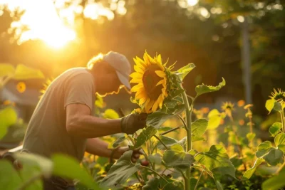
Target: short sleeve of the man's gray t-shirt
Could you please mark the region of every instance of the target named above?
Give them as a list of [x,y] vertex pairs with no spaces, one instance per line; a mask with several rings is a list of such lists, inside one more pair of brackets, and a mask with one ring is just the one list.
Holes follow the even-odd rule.
[[87,105],[93,108],[93,78],[88,73],[81,73],[68,80],[64,92],[64,108],[70,104]]

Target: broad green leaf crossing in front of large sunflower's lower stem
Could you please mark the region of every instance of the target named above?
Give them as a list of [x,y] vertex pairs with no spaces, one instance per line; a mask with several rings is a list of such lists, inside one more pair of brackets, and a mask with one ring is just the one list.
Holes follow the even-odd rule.
[[167,167],[187,169],[194,162],[194,157],[187,154],[180,144],[174,144],[163,154],[163,162]]

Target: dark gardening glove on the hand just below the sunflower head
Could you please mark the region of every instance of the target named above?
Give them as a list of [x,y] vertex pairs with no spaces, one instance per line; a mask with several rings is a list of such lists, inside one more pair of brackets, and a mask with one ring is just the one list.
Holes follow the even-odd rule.
[[146,125],[146,113],[133,113],[122,117],[120,120],[120,127],[122,132],[126,134],[134,134],[137,130],[142,129]]

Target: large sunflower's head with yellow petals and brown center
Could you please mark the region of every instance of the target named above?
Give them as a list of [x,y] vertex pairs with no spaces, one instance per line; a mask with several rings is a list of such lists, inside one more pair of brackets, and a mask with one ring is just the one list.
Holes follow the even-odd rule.
[[[130,90],[135,92],[135,100],[142,107],[142,112],[155,112],[162,108],[163,100],[167,97],[167,68],[162,65],[161,56],[151,58],[146,52],[143,60],[136,57],[135,72],[130,74],[133,78],[130,83],[137,83]],[[166,63],[165,63],[166,64]]]

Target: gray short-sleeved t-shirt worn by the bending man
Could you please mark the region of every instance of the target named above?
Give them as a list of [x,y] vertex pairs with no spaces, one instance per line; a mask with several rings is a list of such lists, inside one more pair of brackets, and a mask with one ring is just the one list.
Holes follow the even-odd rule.
[[93,112],[93,80],[93,75],[86,68],[66,70],[53,80],[28,123],[23,148],[45,157],[54,153],[68,154],[81,162],[86,139],[73,137],[66,132],[66,106],[83,104]]

